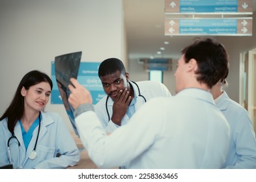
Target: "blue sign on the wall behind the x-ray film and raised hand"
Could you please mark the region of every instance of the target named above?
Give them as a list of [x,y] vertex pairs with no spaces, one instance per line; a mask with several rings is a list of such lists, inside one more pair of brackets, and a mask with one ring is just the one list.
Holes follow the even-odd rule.
[[[93,104],[98,103],[106,95],[98,77],[98,66],[100,66],[100,62],[81,62],[78,72],[78,82],[91,92]],[[51,80],[53,81],[51,104],[63,104],[56,83],[54,67],[54,62],[51,62]]]

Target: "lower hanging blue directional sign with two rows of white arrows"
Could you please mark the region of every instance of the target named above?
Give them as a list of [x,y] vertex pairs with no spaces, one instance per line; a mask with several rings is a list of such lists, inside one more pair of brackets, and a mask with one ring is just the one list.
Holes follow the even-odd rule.
[[165,18],[165,35],[252,36],[252,18]]

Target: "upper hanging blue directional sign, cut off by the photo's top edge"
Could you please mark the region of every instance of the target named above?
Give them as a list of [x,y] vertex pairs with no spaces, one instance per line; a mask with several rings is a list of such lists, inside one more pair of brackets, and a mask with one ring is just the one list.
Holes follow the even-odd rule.
[[252,7],[252,0],[165,0],[165,14],[252,14]]

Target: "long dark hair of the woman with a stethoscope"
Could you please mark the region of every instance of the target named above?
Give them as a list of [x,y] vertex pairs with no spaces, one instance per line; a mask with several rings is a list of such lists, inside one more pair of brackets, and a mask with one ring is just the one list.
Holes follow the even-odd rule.
[[21,88],[23,88],[24,86],[26,90],[29,90],[30,86],[42,82],[49,83],[51,89],[53,88],[53,83],[50,77],[46,75],[46,73],[39,72],[38,70],[33,70],[25,74],[24,77],[21,79],[14,98],[12,99],[12,102],[10,103],[7,110],[5,110],[3,116],[1,116],[0,118],[0,120],[3,120],[5,118],[8,119],[8,130],[10,131],[10,133],[14,134],[14,127],[18,120],[20,120],[24,112],[24,98],[23,96],[21,96]]

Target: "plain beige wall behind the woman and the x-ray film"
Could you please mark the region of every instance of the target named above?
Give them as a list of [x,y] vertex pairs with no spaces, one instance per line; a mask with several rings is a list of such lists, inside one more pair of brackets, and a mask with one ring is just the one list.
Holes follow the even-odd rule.
[[[31,70],[51,75],[51,61],[82,51],[83,62],[126,57],[122,1],[4,0],[0,2],[0,114],[8,107],[21,77]],[[58,112],[71,129],[63,105]]]

